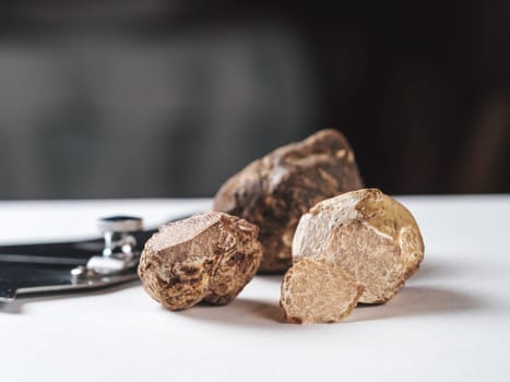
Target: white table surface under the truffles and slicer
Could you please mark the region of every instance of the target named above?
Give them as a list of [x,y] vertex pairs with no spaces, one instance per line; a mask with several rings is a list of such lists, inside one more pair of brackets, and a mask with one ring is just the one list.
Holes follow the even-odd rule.
[[[510,195],[399,198],[426,243],[390,302],[343,323],[281,323],[280,276],[230,305],[161,308],[138,283],[0,305],[0,381],[508,381]],[[209,201],[0,202],[0,241],[88,237],[95,218],[147,225]]]

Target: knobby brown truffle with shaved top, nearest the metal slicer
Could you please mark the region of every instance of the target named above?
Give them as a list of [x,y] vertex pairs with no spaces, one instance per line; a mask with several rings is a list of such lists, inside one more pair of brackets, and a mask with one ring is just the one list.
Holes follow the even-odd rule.
[[259,228],[211,212],[169,223],[145,243],[138,268],[147,294],[169,310],[225,305],[253,278],[262,258]]

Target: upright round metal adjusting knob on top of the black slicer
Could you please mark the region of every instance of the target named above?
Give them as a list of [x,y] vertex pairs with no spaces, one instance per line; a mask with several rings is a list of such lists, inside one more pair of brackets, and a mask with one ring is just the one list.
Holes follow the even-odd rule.
[[103,217],[97,222],[97,226],[105,238],[104,256],[129,260],[134,255],[137,239],[130,234],[142,229],[143,222],[140,217]]

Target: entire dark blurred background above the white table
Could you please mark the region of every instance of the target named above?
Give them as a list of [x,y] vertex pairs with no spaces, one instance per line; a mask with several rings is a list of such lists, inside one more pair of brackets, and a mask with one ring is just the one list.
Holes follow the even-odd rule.
[[16,0],[0,199],[211,196],[321,128],[387,193],[510,192],[510,2]]

